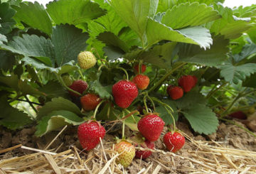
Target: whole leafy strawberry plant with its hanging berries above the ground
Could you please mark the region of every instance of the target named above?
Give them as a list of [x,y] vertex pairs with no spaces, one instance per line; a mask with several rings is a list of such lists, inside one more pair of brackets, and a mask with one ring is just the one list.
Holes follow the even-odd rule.
[[[101,124],[108,121],[122,121],[156,141],[164,124],[185,118],[193,131],[212,134],[225,116],[256,106],[255,6],[0,2],[0,125],[8,129],[36,125],[36,136],[43,136],[83,125],[78,135],[92,135],[79,136],[89,150],[104,137]],[[92,126],[97,130],[90,133]],[[126,146],[132,150],[120,156],[124,166],[134,146],[124,140],[116,145],[118,152]]]

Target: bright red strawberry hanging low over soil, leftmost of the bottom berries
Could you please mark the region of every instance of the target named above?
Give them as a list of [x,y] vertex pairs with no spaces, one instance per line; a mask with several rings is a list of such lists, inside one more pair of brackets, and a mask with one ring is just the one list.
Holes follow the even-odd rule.
[[100,138],[104,138],[105,133],[105,128],[96,121],[87,121],[78,126],[78,139],[86,151],[95,148],[100,143]]

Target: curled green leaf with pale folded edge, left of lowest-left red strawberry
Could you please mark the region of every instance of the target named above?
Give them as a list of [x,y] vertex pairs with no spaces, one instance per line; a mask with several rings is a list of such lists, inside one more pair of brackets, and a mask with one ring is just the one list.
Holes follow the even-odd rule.
[[50,112],[47,116],[38,122],[36,126],[36,136],[43,136],[50,131],[55,131],[62,128],[65,125],[79,125],[82,124],[84,120],[73,112],[58,110]]

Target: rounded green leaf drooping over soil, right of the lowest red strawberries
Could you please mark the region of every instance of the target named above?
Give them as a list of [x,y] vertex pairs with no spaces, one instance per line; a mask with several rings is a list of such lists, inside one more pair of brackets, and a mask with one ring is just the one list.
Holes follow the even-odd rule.
[[191,127],[199,134],[212,134],[218,129],[218,118],[212,110],[203,104],[193,103],[193,107],[182,111]]

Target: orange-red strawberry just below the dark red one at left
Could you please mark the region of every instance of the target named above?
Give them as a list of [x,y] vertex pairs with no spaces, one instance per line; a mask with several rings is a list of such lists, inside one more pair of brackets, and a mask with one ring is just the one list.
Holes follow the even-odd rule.
[[82,109],[85,111],[94,110],[98,104],[100,104],[102,99],[95,94],[86,94],[80,98],[82,104]]

